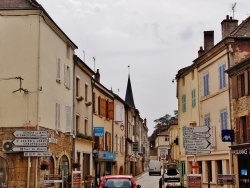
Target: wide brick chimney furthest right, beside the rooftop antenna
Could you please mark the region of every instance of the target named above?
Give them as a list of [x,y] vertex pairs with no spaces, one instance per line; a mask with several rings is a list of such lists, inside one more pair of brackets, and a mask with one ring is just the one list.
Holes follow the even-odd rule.
[[236,27],[238,27],[238,20],[229,18],[227,15],[226,19],[221,22],[222,39],[229,36]]

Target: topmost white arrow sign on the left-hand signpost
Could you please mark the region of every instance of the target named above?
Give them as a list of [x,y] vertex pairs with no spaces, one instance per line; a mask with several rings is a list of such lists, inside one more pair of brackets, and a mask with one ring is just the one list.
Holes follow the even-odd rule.
[[16,130],[12,133],[18,138],[47,138],[48,131],[29,131],[29,130]]

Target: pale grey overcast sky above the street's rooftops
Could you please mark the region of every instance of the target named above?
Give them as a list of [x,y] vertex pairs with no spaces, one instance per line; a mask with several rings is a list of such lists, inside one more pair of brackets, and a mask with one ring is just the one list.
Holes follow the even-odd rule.
[[122,99],[130,74],[148,136],[155,119],[178,109],[172,79],[198,57],[203,32],[214,30],[216,44],[226,15],[234,15],[239,24],[250,16],[249,0],[37,1],[78,46],[76,55],[92,70],[99,69],[101,83]]

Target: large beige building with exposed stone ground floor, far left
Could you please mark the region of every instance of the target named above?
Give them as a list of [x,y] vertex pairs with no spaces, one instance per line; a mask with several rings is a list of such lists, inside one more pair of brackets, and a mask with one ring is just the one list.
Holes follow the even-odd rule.
[[[61,174],[61,184],[66,185],[72,169],[77,46],[39,4],[4,2],[0,7],[1,184],[40,187],[49,174]],[[43,163],[49,166],[44,169]]]

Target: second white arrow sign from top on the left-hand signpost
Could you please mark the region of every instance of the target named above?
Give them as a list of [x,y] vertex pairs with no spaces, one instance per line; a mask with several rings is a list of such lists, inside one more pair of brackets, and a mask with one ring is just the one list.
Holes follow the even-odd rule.
[[47,139],[16,138],[13,140],[15,146],[47,146]]

